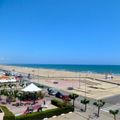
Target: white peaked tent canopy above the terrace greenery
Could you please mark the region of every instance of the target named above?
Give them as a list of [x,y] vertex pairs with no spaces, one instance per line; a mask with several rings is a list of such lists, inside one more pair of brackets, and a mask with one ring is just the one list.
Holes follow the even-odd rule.
[[22,91],[24,92],[39,92],[42,89],[40,89],[39,87],[37,87],[35,84],[31,83],[30,85],[28,85],[26,88],[22,89]]

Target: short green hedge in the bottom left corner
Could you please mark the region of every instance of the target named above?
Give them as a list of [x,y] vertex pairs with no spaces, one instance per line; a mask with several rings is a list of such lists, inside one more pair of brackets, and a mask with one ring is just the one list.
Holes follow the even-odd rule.
[[0,108],[3,110],[5,114],[3,120],[15,120],[14,114],[10,112],[6,106],[0,105]]

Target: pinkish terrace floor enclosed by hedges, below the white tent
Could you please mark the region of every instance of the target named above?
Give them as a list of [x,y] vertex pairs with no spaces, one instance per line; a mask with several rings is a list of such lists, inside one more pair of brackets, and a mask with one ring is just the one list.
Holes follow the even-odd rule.
[[[32,107],[34,108],[34,112],[37,111],[39,106],[43,106],[44,100],[46,101],[46,104],[44,105],[44,108],[42,109],[43,111],[48,110],[48,109],[56,108],[55,106],[53,106],[51,104],[50,99],[45,98],[45,99],[37,100],[36,104],[32,105]],[[15,116],[25,114],[27,108],[31,106],[33,101],[25,101],[25,102],[21,101],[21,103],[23,103],[22,106],[15,106],[16,103],[20,103],[20,101],[16,100],[16,102],[12,102],[11,104],[6,103],[6,98],[5,97],[2,97],[2,100],[0,101],[0,104],[5,105],[11,112],[13,112],[13,114],[15,114]]]

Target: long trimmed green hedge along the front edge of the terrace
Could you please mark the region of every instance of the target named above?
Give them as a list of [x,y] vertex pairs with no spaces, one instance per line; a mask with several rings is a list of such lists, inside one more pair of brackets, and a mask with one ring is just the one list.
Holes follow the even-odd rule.
[[35,112],[23,116],[17,116],[16,120],[42,120],[44,118],[50,118],[52,116],[58,116],[63,113],[68,113],[73,111],[72,107],[64,107],[64,108],[55,108],[51,110],[46,110],[42,112]]

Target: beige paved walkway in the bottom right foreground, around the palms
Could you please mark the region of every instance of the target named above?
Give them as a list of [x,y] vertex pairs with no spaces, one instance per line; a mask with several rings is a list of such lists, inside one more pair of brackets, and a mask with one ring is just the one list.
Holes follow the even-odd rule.
[[[114,107],[116,108],[116,106]],[[96,116],[96,112],[96,107],[88,106],[87,112],[81,112],[80,109],[77,108],[73,113],[54,116],[48,120],[114,120],[113,116],[109,114],[109,112],[103,111],[103,109],[100,111],[100,117]],[[120,120],[120,113],[117,116],[117,120]]]

